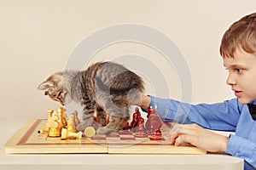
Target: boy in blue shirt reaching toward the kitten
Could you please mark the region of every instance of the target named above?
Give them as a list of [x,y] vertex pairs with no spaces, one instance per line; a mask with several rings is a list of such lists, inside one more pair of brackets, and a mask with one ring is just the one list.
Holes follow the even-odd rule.
[[[157,105],[164,121],[185,117],[185,125],[171,134],[172,144],[193,144],[211,152],[225,152],[245,160],[245,169],[256,168],[256,13],[238,20],[224,33],[220,46],[224,66],[229,71],[226,83],[236,99],[223,103],[189,105],[189,113],[177,111],[187,107],[173,99],[143,96],[141,107]],[[253,107],[254,106],[254,107]],[[255,111],[255,113],[253,113]],[[196,124],[192,124],[196,123]],[[236,131],[225,137],[208,129]]]

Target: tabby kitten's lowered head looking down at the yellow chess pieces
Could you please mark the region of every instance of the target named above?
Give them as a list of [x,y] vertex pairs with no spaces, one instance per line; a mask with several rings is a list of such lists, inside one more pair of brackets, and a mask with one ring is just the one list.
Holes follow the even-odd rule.
[[50,99],[65,105],[68,102],[67,90],[63,88],[63,75],[61,72],[50,76],[46,81],[38,86],[38,90],[44,90],[44,95],[49,95]]

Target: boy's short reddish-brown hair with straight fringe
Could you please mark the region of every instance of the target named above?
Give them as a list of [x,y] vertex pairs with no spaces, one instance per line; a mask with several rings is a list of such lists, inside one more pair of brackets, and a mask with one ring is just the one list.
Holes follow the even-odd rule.
[[234,58],[236,48],[256,54],[256,13],[242,17],[225,31],[219,49],[221,56]]

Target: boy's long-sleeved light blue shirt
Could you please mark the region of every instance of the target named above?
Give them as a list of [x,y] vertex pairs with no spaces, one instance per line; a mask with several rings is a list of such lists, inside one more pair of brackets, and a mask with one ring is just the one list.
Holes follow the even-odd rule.
[[[150,97],[150,105],[157,105],[158,115],[164,122],[196,123],[212,130],[236,132],[230,135],[226,153],[244,159],[245,169],[256,168],[256,121],[247,105],[241,105],[238,99],[189,105],[174,99]],[[256,100],[252,104],[256,104]]]

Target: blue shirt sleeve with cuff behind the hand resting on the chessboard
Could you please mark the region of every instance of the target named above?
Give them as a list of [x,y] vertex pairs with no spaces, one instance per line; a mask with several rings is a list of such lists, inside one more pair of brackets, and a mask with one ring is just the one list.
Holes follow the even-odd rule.
[[230,134],[230,143],[226,153],[245,159],[250,165],[256,167],[256,144],[248,139]]

